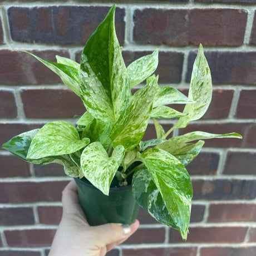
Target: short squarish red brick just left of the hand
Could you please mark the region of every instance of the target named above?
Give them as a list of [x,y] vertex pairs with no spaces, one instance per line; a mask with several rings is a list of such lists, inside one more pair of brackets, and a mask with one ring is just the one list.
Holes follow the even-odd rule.
[[38,206],[38,216],[40,223],[58,225],[61,221],[61,206]]

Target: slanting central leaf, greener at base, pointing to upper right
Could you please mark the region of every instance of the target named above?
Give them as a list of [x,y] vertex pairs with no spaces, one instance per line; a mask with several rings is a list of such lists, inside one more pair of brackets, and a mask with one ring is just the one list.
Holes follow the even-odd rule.
[[134,149],[141,141],[149,123],[157,79],[158,77],[132,97],[130,106],[113,126],[110,138],[114,146],[123,145],[127,151]]

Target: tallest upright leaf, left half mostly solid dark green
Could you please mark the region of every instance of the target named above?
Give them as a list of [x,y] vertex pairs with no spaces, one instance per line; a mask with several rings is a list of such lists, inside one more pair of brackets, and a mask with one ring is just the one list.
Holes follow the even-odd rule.
[[130,103],[130,81],[115,32],[112,6],[83,49],[80,93],[90,114],[103,121],[117,120]]

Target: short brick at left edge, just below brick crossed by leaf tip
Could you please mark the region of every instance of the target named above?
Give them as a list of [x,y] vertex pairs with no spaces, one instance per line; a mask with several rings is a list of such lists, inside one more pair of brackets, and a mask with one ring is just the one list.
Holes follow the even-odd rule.
[[0,118],[17,117],[17,106],[11,91],[0,91]]

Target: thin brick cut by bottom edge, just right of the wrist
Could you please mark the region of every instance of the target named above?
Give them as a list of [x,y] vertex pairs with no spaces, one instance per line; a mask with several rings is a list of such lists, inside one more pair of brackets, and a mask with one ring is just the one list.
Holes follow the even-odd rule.
[[196,256],[195,247],[122,249],[123,256]]

